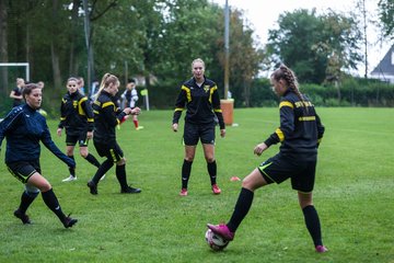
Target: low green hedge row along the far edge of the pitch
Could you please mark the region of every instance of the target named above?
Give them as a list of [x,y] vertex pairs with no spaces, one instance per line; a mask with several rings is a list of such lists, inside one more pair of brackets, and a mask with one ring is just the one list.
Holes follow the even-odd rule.
[[[232,88],[234,89],[234,88]],[[306,94],[316,106],[394,106],[394,84],[378,80],[348,78],[337,85],[300,84],[301,92]],[[174,108],[174,103],[179,92],[177,84],[161,84],[149,89],[149,105],[151,110]],[[244,92],[239,89],[233,94],[235,107],[245,107]],[[62,94],[57,94],[50,89],[44,90],[43,107],[50,117],[58,117]],[[12,100],[9,94],[0,95],[0,118],[10,110]],[[140,96],[139,105],[144,107],[144,99]],[[256,79],[250,88],[248,106],[277,106],[278,98],[273,92],[268,79]]]

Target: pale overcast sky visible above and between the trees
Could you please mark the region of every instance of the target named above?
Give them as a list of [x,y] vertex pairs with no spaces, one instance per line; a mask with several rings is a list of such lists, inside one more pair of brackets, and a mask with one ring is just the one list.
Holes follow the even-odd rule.
[[[316,8],[317,13],[323,13],[327,9],[336,12],[344,12],[345,14],[356,8],[355,0],[228,0],[230,7],[244,10],[244,16],[254,28],[256,37],[264,45],[268,38],[268,30],[277,28],[277,20],[279,15],[286,11],[293,11],[296,9],[311,10]],[[219,3],[224,7],[225,0],[211,0],[211,2]],[[366,7],[371,19],[378,18],[378,2],[379,0],[366,0]],[[392,43],[379,43],[378,28],[373,25],[368,27],[369,37],[369,69],[371,72],[380,62],[380,60],[387,53]],[[363,76],[364,67],[359,66],[359,71],[354,72]]]

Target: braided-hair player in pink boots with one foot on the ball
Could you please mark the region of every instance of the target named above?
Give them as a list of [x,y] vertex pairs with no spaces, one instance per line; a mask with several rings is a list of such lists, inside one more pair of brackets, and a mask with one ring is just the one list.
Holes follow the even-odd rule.
[[292,188],[298,191],[299,204],[315,250],[320,253],[326,252],[318,215],[312,202],[317,147],[324,127],[313,104],[299,91],[292,70],[282,65],[274,71],[270,80],[275,92],[281,96],[280,127],[264,142],[257,145],[254,153],[260,156],[269,146],[278,142],[281,142],[280,151],[259,164],[243,180],[230,221],[225,225],[208,224],[208,228],[225,240],[233,240],[237,227],[252,206],[254,191],[290,179]]

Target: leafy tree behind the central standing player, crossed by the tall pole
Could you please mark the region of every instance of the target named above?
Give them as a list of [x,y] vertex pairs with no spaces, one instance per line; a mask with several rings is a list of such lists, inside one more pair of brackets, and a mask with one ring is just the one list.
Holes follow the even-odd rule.
[[[206,2],[206,1],[205,1]],[[207,2],[196,5],[193,0],[176,1],[170,7],[164,27],[165,59],[160,70],[163,79],[176,80],[182,72],[190,77],[190,62],[201,57],[206,75],[223,87],[224,76],[224,12]],[[230,16],[230,90],[237,105],[248,105],[252,79],[258,73],[263,52],[256,47],[253,30],[236,9]],[[175,83],[178,83],[178,80]],[[222,89],[224,90],[224,89]],[[223,96],[223,94],[222,94]]]

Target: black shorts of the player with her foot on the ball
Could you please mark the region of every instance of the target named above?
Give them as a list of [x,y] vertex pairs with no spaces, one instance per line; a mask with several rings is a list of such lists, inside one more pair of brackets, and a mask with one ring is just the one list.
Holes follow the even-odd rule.
[[280,184],[290,178],[293,190],[304,193],[313,191],[316,160],[292,160],[278,153],[267,161],[262,162],[257,169],[267,183],[275,182]]

